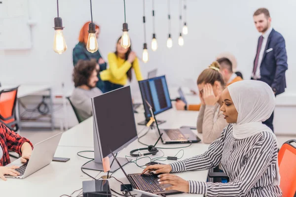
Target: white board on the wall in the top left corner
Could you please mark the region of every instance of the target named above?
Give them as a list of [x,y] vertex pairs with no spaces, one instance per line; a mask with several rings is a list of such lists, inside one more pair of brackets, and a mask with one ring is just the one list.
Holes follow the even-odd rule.
[[29,0],[0,1],[0,49],[31,49]]

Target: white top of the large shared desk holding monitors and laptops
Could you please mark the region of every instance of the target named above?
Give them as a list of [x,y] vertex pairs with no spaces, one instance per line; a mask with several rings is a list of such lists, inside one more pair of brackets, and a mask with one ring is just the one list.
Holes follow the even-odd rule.
[[[160,120],[166,120],[167,122],[159,125],[160,128],[174,129],[180,128],[181,126],[195,126],[197,120],[198,112],[196,111],[177,111],[175,109],[170,109],[166,112],[163,112],[157,115],[157,118]],[[138,113],[135,114],[136,123],[144,120],[144,114]],[[148,129],[148,128],[147,128]],[[145,126],[137,125],[137,131],[139,135],[142,135],[147,131]],[[197,131],[193,131],[197,134]],[[201,137],[200,134],[198,134]],[[148,134],[141,138],[143,143],[154,144],[158,136],[156,130],[150,130]],[[157,147],[181,147],[186,146],[187,144],[170,144],[163,145],[161,142],[158,142]],[[208,149],[208,144],[203,143],[194,143],[191,146],[184,149],[184,156],[181,160],[193,157],[198,154],[204,153]],[[141,145],[137,140],[129,144],[124,148],[119,154],[118,157],[129,156],[129,152],[132,149],[141,148],[144,145]],[[85,164],[88,159],[84,159],[77,156],[77,152],[84,150],[93,150],[93,122],[92,117],[85,120],[84,122],[76,125],[72,129],[65,131],[62,135],[59,147],[55,153],[55,157],[65,157],[70,158],[70,161],[66,163],[52,162],[51,164],[45,166],[44,168],[33,173],[24,180],[21,179],[8,179],[6,182],[0,181],[1,186],[1,195],[9,196],[12,194],[15,196],[30,196],[30,197],[60,197],[63,194],[71,195],[74,191],[82,188],[82,181],[91,180],[87,175],[83,174],[80,170],[80,167]],[[164,156],[174,156],[181,149],[161,149]],[[81,153],[83,154],[83,153]],[[160,157],[163,155],[161,152],[157,153],[154,157]],[[93,158],[93,153],[84,153],[83,156]],[[182,156],[182,152],[177,155],[178,157]],[[149,160],[142,159],[137,163],[143,165],[148,163]],[[173,161],[161,162],[164,164],[172,163]],[[124,169],[127,173],[140,173],[143,169],[138,167],[136,164],[126,164]],[[91,176],[96,178],[106,175],[107,173],[98,172],[93,170],[85,170]],[[202,171],[191,171],[177,173],[185,180],[197,180],[197,181],[206,181],[208,170]],[[126,177],[124,176],[121,170],[117,170],[114,174],[118,180],[123,183],[128,183]],[[109,180],[110,186],[113,190],[120,193],[120,183],[115,179],[111,178]],[[15,188],[17,187],[17,190]],[[74,193],[73,197],[79,196],[82,190]],[[189,197],[190,194],[179,194],[175,195],[176,197]],[[117,195],[116,195],[117,196]],[[202,195],[196,195],[201,197]]]

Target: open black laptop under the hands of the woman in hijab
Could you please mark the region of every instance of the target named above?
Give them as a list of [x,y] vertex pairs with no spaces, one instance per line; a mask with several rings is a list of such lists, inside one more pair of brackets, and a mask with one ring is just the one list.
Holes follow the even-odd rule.
[[169,190],[165,191],[164,188],[170,187],[171,185],[165,184],[160,185],[158,183],[158,177],[157,174],[147,173],[147,174],[126,174],[118,160],[116,159],[115,155],[111,151],[111,154],[121,170],[123,171],[124,175],[126,176],[127,180],[132,185],[133,189],[135,190],[141,190],[152,194],[165,194],[165,195],[172,195],[172,194],[181,194],[182,192],[176,191],[176,190]]

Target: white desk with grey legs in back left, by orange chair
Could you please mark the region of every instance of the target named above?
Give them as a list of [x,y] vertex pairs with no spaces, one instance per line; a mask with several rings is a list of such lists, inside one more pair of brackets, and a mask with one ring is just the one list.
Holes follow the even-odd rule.
[[[0,90],[2,89],[9,89],[9,88],[14,88],[18,85],[15,84],[7,84],[4,86],[0,87]],[[54,121],[53,121],[53,103],[52,103],[52,92],[51,92],[51,87],[48,85],[20,85],[18,88],[18,92],[17,92],[17,98],[21,99],[23,97],[29,96],[29,95],[35,95],[37,93],[43,92],[43,91],[48,91],[49,92],[49,97],[50,97],[50,103],[49,103],[49,108],[50,108],[50,112],[51,112],[51,130],[54,130]],[[17,107],[17,114],[18,114],[18,122],[19,122],[19,128],[21,130],[22,125],[21,125],[21,121],[20,121],[20,105],[17,103],[18,107]]]

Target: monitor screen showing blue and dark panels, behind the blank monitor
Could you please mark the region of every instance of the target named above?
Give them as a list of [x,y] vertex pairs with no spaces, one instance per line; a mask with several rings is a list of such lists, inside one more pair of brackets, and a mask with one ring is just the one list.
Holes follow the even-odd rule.
[[146,100],[152,106],[155,115],[172,108],[165,76],[139,81],[139,86],[143,99],[146,119],[151,117]]

